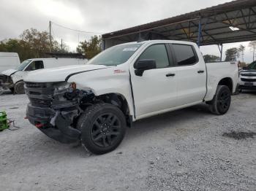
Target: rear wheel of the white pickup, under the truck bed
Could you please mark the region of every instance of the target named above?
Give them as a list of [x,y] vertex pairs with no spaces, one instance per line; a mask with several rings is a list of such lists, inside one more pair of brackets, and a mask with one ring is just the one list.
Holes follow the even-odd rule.
[[218,85],[216,94],[210,104],[210,111],[217,115],[225,114],[230,108],[230,103],[230,89],[225,85]]

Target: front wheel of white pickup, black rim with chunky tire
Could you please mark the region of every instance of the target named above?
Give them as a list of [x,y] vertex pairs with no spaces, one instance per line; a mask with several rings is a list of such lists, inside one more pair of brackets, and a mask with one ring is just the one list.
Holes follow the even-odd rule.
[[83,146],[95,155],[116,149],[124,139],[126,127],[123,112],[111,104],[89,106],[77,123]]

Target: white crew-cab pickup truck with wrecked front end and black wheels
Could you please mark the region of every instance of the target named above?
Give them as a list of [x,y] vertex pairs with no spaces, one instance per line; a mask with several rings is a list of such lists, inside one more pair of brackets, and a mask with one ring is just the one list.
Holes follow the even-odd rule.
[[86,66],[31,72],[26,116],[50,138],[81,141],[99,155],[116,149],[136,120],[200,103],[225,114],[237,82],[237,63],[205,63],[192,42],[119,44]]

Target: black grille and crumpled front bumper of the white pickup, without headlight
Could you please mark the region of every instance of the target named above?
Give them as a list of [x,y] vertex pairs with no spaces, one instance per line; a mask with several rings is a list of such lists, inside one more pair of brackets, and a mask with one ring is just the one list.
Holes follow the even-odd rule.
[[[25,90],[31,102],[27,106],[26,116],[32,125],[46,136],[64,144],[80,139],[80,130],[72,127],[73,118],[78,115],[74,103],[67,104],[66,101],[54,98],[53,85],[26,82]],[[58,109],[53,109],[53,103],[56,103]]]

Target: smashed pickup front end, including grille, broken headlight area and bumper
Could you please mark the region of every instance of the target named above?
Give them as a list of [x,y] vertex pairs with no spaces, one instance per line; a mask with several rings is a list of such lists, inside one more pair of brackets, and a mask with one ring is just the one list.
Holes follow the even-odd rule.
[[30,100],[26,116],[31,124],[61,143],[80,139],[76,122],[93,102],[91,90],[78,90],[75,83],[67,82],[25,82],[25,90]]

